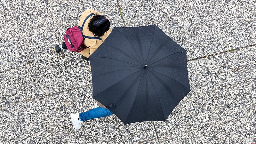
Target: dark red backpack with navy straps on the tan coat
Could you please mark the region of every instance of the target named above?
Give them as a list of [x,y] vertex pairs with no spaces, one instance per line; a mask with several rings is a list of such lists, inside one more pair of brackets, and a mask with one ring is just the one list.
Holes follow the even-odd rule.
[[[84,20],[84,23],[90,16],[93,16],[93,15],[94,13],[91,13],[90,15],[88,15]],[[68,28],[66,30],[66,34],[64,35],[64,41],[68,50],[71,52],[82,52],[84,49],[86,49],[86,46],[84,45],[84,38],[99,39],[102,41],[100,37],[84,36],[83,34],[84,23],[82,25],[82,28],[75,26],[73,28]]]

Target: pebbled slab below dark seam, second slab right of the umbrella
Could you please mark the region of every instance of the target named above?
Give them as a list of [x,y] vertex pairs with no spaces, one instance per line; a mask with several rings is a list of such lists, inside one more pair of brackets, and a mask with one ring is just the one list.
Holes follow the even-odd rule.
[[209,56],[205,60],[215,89],[245,82],[245,69],[241,67],[238,51]]

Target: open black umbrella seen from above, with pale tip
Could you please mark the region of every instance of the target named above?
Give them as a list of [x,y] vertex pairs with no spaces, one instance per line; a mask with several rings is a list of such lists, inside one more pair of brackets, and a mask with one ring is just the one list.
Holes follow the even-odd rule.
[[165,121],[190,92],[186,50],[156,25],[114,28],[89,59],[93,98],[124,124]]

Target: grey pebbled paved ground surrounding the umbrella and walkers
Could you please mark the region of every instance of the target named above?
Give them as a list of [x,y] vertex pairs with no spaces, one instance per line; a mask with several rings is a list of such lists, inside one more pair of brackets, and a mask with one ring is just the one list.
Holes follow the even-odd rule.
[[[232,143],[256,141],[255,0],[2,0],[0,143]],[[94,9],[111,28],[156,24],[187,50],[191,92],[166,122],[84,122],[92,109],[88,62],[55,54],[66,28]]]

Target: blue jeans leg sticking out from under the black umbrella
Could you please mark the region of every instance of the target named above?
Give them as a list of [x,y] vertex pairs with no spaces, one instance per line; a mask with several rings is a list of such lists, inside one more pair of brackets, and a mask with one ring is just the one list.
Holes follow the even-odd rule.
[[114,114],[114,113],[112,113],[108,108],[98,107],[98,108],[93,108],[93,109],[88,110],[86,112],[80,113],[79,114],[79,120],[80,121],[87,121],[89,119],[110,116],[112,114]]

